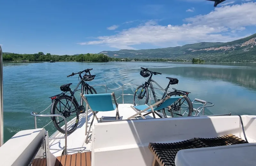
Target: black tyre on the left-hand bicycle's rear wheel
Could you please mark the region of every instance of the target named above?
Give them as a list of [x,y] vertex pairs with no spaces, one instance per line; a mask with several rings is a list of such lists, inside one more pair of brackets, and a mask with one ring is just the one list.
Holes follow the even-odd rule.
[[[75,106],[75,109],[76,109],[76,110],[79,109],[79,105],[78,105],[78,103],[76,102],[76,100],[73,99],[73,101],[72,101],[72,97],[67,96],[67,95],[63,95],[63,96],[60,96],[60,97],[58,98],[58,100],[55,100],[55,101],[52,102],[51,114],[53,114],[53,115],[56,114],[56,111],[58,111],[57,105],[60,105],[62,99],[66,100],[66,101],[68,100],[68,101],[70,101],[70,103],[72,102],[72,104]],[[62,102],[62,103],[63,103],[63,102]],[[71,107],[70,107],[70,108],[72,108],[72,104],[71,104]],[[65,106],[65,107],[66,107],[66,106]],[[64,107],[64,108],[65,108],[65,107]],[[69,110],[69,112],[70,112],[70,110]],[[77,112],[75,112],[75,113],[76,113],[76,121],[75,121],[74,126],[73,126],[70,130],[68,130],[68,128],[69,128],[69,127],[68,127],[68,122],[69,122],[69,121],[67,121],[67,133],[68,133],[68,134],[71,134],[72,132],[74,132],[74,131],[76,130],[77,125],[78,125],[78,121],[79,121],[79,112],[77,111]],[[61,113],[62,116],[64,116],[64,114],[65,114],[65,113]],[[64,116],[64,117],[66,117],[66,116]],[[69,116],[69,117],[71,117],[71,116]],[[68,120],[68,117],[66,117],[66,119]],[[71,118],[71,120],[73,120],[73,118]],[[59,132],[65,134],[65,130],[63,130],[63,129],[61,128],[63,125],[59,126],[59,124],[58,124],[58,122],[57,122],[57,120],[56,120],[56,117],[52,117],[52,121],[53,121],[53,124],[54,124],[55,128],[56,128]],[[64,121],[64,120],[63,120],[63,121]],[[59,122],[59,123],[60,123],[60,122]],[[64,125],[65,125],[65,122],[64,122]]]

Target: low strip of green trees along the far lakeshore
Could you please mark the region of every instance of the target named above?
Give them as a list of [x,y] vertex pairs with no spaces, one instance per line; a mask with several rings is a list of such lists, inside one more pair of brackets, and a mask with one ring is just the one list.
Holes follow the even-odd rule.
[[77,62],[108,62],[108,61],[154,61],[154,62],[185,62],[183,59],[168,59],[168,58],[115,58],[108,57],[103,54],[79,54],[79,55],[52,55],[47,53],[44,55],[43,52],[36,54],[15,54],[15,53],[4,53],[4,61],[14,60],[28,60],[28,61],[77,61]]

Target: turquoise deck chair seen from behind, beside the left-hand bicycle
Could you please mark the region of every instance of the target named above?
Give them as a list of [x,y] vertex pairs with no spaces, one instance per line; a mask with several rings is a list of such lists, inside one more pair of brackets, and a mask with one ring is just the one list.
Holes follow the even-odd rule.
[[[116,120],[118,120],[120,118],[120,116],[119,116],[118,104],[116,102],[114,92],[111,94],[84,94],[84,95],[81,94],[81,96],[93,113],[92,122],[90,124],[89,131],[88,132],[86,131],[86,133],[85,133],[85,134],[87,134],[85,142],[87,142],[89,133],[92,128],[92,123],[93,123],[94,117],[96,117],[96,119],[99,123],[103,118],[116,118]],[[112,96],[114,98],[115,104],[113,104],[113,102],[112,102]],[[116,110],[116,117],[103,117],[103,118],[100,118],[100,120],[98,119],[98,117],[96,116],[96,113],[95,113],[98,111],[105,112],[105,111],[114,111],[114,110]],[[87,115],[86,116],[86,118],[87,118],[86,119],[86,127],[87,127],[88,108],[86,109],[86,115]]]

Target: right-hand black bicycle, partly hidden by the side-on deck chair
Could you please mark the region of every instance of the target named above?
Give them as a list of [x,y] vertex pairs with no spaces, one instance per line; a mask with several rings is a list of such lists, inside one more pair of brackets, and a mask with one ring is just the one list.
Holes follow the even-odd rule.
[[134,105],[143,105],[143,104],[148,103],[148,98],[149,98],[148,87],[152,91],[155,102],[160,101],[159,99],[157,100],[157,98],[156,98],[156,93],[155,93],[154,87],[152,85],[152,82],[154,82],[161,90],[164,91],[162,99],[164,99],[166,96],[172,97],[172,96],[184,96],[185,95],[184,98],[182,98],[181,100],[174,102],[172,105],[170,105],[171,109],[169,109],[169,108],[163,109],[164,117],[173,117],[173,116],[174,117],[184,117],[184,116],[192,115],[193,105],[192,105],[192,102],[190,101],[190,99],[188,98],[188,94],[190,92],[177,90],[175,88],[172,88],[174,90],[173,92],[170,92],[170,93],[167,92],[170,85],[178,84],[178,82],[179,82],[178,79],[166,77],[167,79],[169,79],[169,83],[168,83],[167,87],[165,89],[163,89],[160,85],[158,85],[156,83],[156,81],[154,81],[152,79],[153,75],[162,74],[162,73],[152,72],[152,71],[148,70],[148,68],[143,68],[143,67],[140,67],[140,68],[142,69],[140,71],[140,75],[144,78],[147,78],[147,77],[149,77],[149,78],[148,78],[148,81],[145,82],[145,84],[140,85],[136,89],[134,96],[133,96],[133,104]]

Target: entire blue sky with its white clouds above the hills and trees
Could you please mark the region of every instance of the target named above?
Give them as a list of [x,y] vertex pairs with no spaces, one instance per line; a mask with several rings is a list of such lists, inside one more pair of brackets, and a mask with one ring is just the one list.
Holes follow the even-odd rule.
[[254,0],[0,0],[4,52],[51,54],[175,47],[256,33]]

